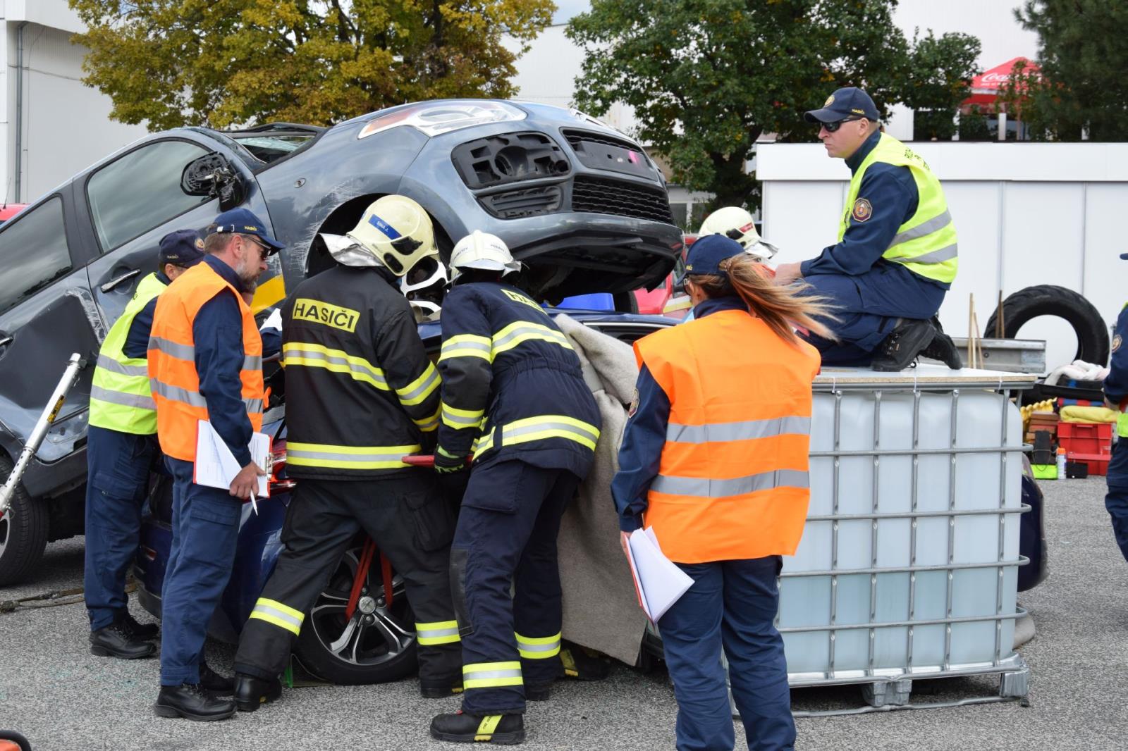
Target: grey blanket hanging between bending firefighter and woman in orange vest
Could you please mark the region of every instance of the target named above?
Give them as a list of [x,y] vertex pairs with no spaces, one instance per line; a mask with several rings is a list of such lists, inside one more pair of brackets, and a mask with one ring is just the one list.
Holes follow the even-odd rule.
[[559,533],[565,639],[635,664],[646,616],[638,607],[631,568],[619,547],[619,523],[611,501],[619,442],[638,369],[631,345],[567,316],[556,325],[575,347],[584,381],[603,419],[596,463],[564,513]]

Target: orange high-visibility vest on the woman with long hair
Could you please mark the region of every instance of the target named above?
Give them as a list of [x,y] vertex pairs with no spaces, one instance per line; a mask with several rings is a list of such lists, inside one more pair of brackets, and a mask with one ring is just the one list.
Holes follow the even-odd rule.
[[743,310],[635,342],[670,399],[643,514],[678,563],[793,555],[803,534],[819,353]]

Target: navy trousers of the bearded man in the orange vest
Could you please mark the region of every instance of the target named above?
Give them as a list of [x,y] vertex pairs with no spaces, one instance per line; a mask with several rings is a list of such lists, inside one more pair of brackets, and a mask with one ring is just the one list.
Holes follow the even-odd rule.
[[192,481],[192,462],[166,457],[173,474],[173,548],[161,590],[160,683],[200,682],[208,622],[231,577],[243,502]]

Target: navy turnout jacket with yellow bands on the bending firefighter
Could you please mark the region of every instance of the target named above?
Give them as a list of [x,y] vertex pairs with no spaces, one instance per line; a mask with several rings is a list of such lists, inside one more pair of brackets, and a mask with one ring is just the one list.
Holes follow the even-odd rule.
[[451,290],[440,320],[439,447],[476,465],[520,459],[585,476],[599,408],[548,313],[514,286],[474,282]]

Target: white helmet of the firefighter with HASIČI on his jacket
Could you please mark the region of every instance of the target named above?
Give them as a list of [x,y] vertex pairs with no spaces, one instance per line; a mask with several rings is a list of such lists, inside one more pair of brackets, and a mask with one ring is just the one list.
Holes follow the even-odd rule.
[[370,203],[349,237],[396,276],[421,259],[439,255],[431,218],[423,206],[403,195],[386,195]]

